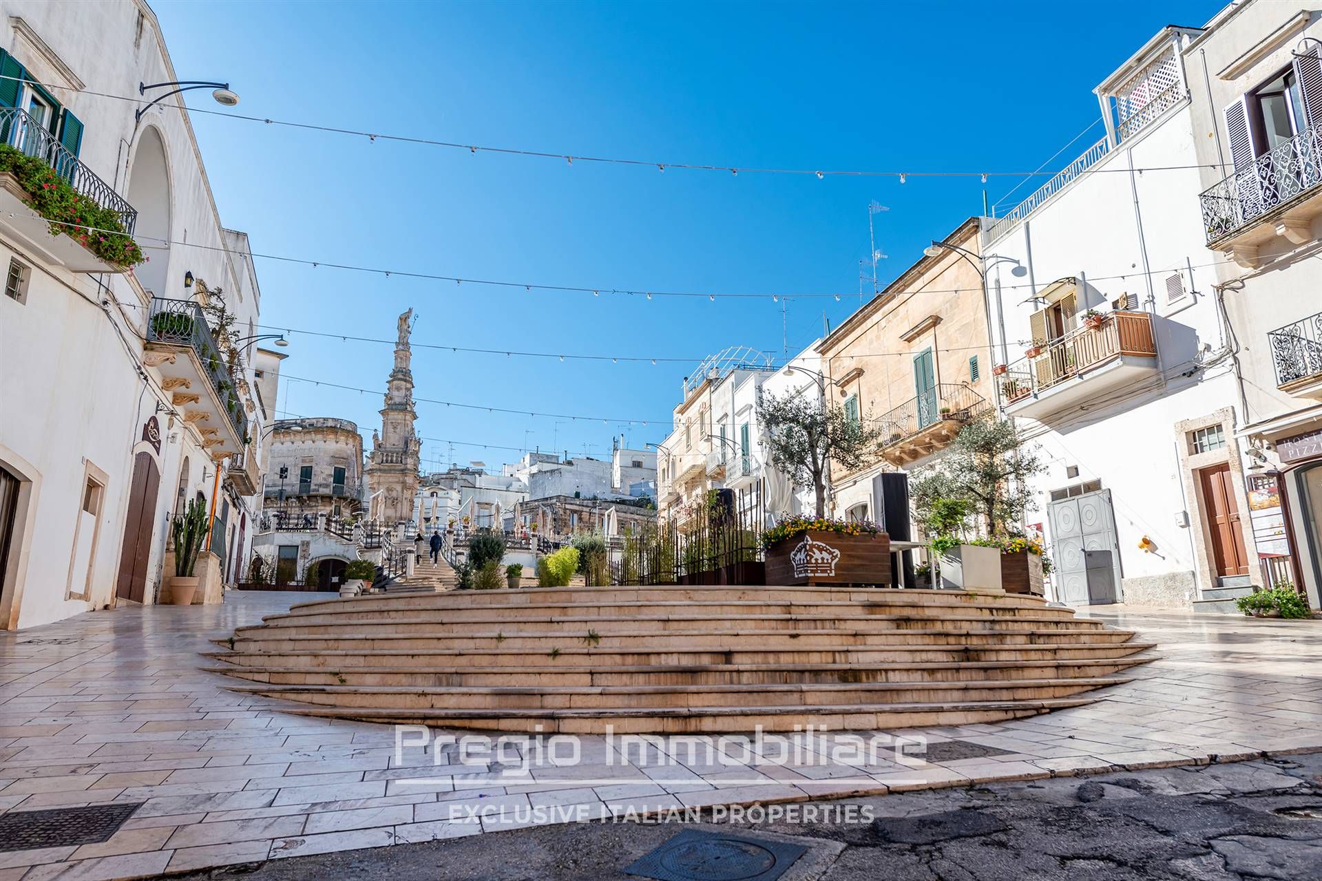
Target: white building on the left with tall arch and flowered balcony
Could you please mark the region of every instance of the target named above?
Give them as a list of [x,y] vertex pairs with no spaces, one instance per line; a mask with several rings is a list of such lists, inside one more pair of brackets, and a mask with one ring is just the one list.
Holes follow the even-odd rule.
[[0,174],[0,627],[28,627],[153,602],[169,518],[197,497],[215,515],[200,565],[218,585],[251,534],[274,399],[256,399],[255,341],[231,362],[201,312],[223,291],[235,338],[255,337],[262,293],[246,236],[221,225],[182,96],[136,119],[169,90],[93,94],[197,71],[175,70],[141,1],[4,0],[0,20],[5,162],[49,165],[53,186],[108,211],[151,258],[130,272],[100,232],[87,246],[52,235]]

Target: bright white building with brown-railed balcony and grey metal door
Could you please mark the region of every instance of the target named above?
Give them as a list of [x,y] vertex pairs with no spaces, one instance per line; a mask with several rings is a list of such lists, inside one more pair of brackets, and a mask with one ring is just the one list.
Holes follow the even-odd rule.
[[1247,499],[1192,168],[1200,33],[1140,48],[1095,90],[1107,135],[984,225],[999,403],[1047,460],[1030,526],[1071,605],[1188,606],[1261,580],[1248,518],[1220,524],[1237,553],[1211,538]]

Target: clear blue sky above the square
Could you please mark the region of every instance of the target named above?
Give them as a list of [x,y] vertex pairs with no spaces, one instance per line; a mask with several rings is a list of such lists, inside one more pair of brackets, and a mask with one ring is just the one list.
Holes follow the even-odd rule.
[[[226,79],[237,112],[357,131],[567,155],[726,166],[1031,170],[1099,110],[1103,78],[1167,24],[1219,3],[1124,3],[1081,33],[1059,3],[200,3],[157,0],[182,79]],[[1118,9],[1117,9],[1118,12]],[[218,110],[206,92],[197,107]],[[378,338],[412,306],[415,342],[701,359],[730,345],[777,357],[858,306],[867,205],[887,281],[981,213],[977,177],[685,172],[471,155],[193,115],[227,226],[254,251],[460,277],[603,289],[767,293],[754,300],[543,293],[258,260],[263,322]],[[1055,161],[1103,133],[1097,125]],[[993,177],[992,202],[1019,178]],[[1002,211],[1032,192],[1026,184]],[[383,388],[386,345],[291,337],[291,376]],[[414,353],[415,394],[550,419],[419,403],[418,433],[608,456],[660,441],[693,363]],[[290,382],[279,408],[353,419],[378,394]],[[603,423],[600,417],[607,417]],[[628,420],[635,420],[629,425]],[[646,420],[646,427],[641,421]],[[488,449],[483,449],[483,444]],[[424,468],[449,458],[424,440]]]

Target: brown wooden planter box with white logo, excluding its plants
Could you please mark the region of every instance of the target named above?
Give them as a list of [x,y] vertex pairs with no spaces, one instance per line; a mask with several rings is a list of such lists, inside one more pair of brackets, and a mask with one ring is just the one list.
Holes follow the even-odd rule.
[[767,584],[890,586],[891,539],[884,532],[804,532],[767,548]]

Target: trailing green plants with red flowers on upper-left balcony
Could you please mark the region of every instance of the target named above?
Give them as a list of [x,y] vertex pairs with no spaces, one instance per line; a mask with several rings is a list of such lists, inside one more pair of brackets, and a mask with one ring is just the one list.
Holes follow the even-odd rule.
[[49,227],[52,235],[67,235],[115,265],[132,267],[143,262],[143,251],[124,234],[119,213],[78,193],[44,160],[0,144],[0,172],[11,172],[37,214],[54,221]]

